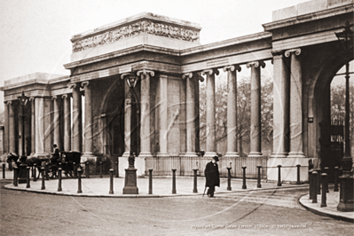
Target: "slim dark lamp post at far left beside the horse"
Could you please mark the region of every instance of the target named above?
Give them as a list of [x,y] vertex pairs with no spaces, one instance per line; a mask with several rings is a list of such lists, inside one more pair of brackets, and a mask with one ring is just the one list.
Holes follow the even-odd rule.
[[22,114],[20,117],[22,118],[22,130],[21,130],[21,138],[22,138],[22,155],[20,157],[20,166],[19,166],[19,184],[23,184],[27,182],[27,165],[26,165],[26,152],[25,152],[25,106],[28,102],[28,97],[25,96],[25,92],[22,91],[22,95],[17,97],[20,101],[20,105],[22,106]]

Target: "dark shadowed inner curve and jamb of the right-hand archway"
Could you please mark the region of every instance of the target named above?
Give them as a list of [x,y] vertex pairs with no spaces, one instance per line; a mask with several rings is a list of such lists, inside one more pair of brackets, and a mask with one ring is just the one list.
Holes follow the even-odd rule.
[[[334,166],[340,164],[340,160],[334,160],[331,154],[331,134],[338,132],[338,127],[331,124],[331,96],[330,86],[337,72],[350,60],[353,55],[343,53],[334,44],[327,48],[326,57],[323,54],[317,56],[320,67],[313,71],[313,77],[308,87],[308,99],[304,109],[309,119],[313,122],[305,122],[307,131],[307,154],[317,158],[315,168],[329,168],[329,178],[333,176]],[[307,107],[306,107],[307,106]],[[336,131],[335,131],[336,130]]]

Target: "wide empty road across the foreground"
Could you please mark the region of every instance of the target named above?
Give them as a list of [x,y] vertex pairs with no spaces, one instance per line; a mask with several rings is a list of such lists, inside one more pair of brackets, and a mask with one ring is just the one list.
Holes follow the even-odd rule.
[[[4,181],[0,182],[1,186]],[[10,183],[9,181],[6,183]],[[354,224],[318,216],[305,189],[160,199],[1,193],[1,235],[352,235]]]

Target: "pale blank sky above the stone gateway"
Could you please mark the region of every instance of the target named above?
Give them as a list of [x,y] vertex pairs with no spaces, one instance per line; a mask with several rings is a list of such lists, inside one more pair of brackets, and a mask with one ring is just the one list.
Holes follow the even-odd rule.
[[[201,25],[201,44],[264,31],[271,12],[307,0],[0,0],[0,86],[35,72],[69,75],[73,35],[141,12]],[[0,91],[0,111],[4,109]]]

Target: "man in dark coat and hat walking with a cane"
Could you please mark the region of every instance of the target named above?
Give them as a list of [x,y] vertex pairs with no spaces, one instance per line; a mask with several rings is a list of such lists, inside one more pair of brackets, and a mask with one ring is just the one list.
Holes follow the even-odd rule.
[[214,197],[215,186],[220,187],[220,175],[219,175],[219,167],[217,166],[217,161],[219,161],[218,156],[214,156],[213,160],[208,162],[205,167],[205,186],[208,187],[208,197]]

